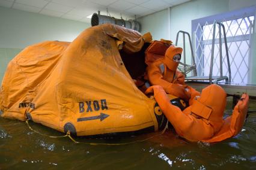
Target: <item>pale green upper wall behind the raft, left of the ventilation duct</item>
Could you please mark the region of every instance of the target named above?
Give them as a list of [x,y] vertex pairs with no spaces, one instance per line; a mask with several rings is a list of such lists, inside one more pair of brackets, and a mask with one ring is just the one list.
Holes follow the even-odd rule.
[[0,7],[0,48],[45,40],[73,41],[90,24]]

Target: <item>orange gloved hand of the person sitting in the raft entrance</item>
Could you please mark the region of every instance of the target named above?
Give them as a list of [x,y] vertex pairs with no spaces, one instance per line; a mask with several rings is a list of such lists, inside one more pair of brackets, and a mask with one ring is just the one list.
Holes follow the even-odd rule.
[[189,101],[190,95],[187,93],[187,90],[185,89],[187,87],[186,84],[181,85],[181,84],[175,84],[175,83],[170,83],[170,86],[166,89],[166,92],[177,96],[178,98],[181,98],[185,101]]

